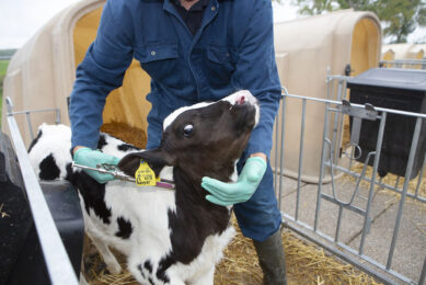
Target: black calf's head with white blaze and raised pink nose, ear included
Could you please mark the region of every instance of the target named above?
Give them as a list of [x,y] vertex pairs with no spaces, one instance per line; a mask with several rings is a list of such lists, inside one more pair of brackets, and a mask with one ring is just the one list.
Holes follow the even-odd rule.
[[118,167],[134,175],[143,160],[156,174],[170,166],[194,182],[205,175],[229,181],[258,117],[257,101],[245,90],[179,109],[165,118],[159,148],[130,153]]

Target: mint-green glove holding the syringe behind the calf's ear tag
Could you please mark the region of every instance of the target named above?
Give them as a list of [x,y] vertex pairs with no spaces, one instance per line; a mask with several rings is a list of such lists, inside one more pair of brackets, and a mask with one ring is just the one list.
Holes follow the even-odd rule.
[[[97,164],[102,163],[116,166],[119,161],[119,158],[90,148],[79,148],[76,151],[73,159],[76,163],[90,168],[96,168]],[[115,179],[111,174],[101,173],[94,170],[84,169],[84,172],[102,184]]]

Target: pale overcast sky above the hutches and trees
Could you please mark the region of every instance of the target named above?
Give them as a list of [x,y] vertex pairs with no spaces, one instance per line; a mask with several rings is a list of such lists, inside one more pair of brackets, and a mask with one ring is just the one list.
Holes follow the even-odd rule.
[[[19,48],[45,23],[65,8],[81,0],[0,0],[0,49]],[[84,1],[84,0],[83,0]],[[297,8],[274,2],[274,20],[297,18]],[[414,42],[426,36],[426,29],[408,37]]]

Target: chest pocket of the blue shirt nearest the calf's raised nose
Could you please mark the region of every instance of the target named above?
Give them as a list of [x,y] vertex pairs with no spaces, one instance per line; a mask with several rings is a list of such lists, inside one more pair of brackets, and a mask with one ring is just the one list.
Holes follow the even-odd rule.
[[207,75],[211,86],[230,83],[235,70],[234,53],[228,46],[209,45],[207,48]]

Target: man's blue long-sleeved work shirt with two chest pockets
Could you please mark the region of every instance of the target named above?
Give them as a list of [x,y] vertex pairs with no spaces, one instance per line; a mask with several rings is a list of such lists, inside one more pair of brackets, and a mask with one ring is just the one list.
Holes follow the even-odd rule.
[[151,77],[148,145],[160,141],[174,110],[247,89],[260,101],[261,119],[246,151],[268,156],[280,99],[273,37],[270,0],[210,0],[194,36],[171,0],[108,0],[77,69],[72,146],[96,148],[106,95],[136,58]]

